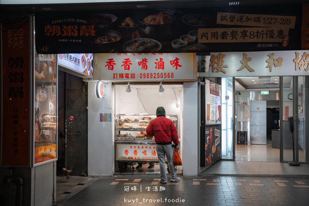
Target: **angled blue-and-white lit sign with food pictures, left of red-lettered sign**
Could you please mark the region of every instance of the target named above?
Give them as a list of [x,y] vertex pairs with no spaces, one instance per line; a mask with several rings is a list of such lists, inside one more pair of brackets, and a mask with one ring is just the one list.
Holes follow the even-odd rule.
[[93,54],[58,54],[58,64],[93,77]]

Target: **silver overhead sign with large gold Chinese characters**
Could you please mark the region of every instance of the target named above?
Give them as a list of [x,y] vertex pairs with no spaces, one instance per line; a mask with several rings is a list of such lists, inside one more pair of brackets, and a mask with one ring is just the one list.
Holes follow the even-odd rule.
[[210,53],[209,71],[202,77],[309,75],[309,50]]

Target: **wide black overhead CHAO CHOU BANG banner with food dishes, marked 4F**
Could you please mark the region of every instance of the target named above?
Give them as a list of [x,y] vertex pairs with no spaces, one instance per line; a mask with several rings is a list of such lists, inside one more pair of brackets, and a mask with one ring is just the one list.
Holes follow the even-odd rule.
[[36,12],[36,51],[196,53],[301,49],[301,4],[177,11]]

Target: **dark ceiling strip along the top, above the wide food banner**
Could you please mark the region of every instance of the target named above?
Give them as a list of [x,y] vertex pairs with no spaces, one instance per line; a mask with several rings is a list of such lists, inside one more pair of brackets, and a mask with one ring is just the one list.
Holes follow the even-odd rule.
[[[178,0],[178,1],[148,1],[148,2],[108,2],[108,3],[74,3],[74,4],[0,4],[2,14],[19,14],[55,11],[107,11],[107,10],[135,10],[160,8],[207,8],[229,6],[230,2],[239,2],[237,6],[280,5],[307,3],[308,0]],[[234,5],[235,6],[235,5]]]

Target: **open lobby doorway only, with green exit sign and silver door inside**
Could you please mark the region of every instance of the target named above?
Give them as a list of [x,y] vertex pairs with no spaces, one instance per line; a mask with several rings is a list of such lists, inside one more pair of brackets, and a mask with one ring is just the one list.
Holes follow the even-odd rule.
[[235,161],[280,162],[279,77],[235,77],[234,95]]

